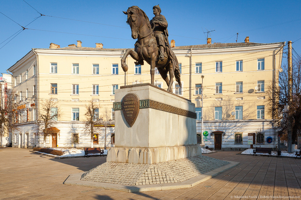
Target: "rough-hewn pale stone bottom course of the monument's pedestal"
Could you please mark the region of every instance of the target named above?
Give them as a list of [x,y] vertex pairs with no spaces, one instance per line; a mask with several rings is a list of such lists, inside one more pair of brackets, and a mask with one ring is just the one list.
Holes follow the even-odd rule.
[[200,145],[134,148],[111,147],[107,162],[154,164],[201,155]]

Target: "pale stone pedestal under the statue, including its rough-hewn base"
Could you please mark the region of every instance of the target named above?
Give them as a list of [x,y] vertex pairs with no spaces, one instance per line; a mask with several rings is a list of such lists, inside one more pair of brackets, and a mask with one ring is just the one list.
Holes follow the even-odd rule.
[[[121,103],[129,93],[140,101],[132,127]],[[115,147],[109,149],[107,162],[153,164],[201,155],[190,100],[149,83],[137,84],[115,91],[114,109]]]

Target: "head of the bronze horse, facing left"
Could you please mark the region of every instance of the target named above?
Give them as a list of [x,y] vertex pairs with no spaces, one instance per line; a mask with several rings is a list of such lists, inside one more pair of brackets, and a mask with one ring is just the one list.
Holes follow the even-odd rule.
[[141,27],[144,19],[144,12],[138,6],[131,6],[126,12],[123,11],[123,13],[128,16],[126,23],[129,24],[132,29],[132,38],[137,39],[139,27]]

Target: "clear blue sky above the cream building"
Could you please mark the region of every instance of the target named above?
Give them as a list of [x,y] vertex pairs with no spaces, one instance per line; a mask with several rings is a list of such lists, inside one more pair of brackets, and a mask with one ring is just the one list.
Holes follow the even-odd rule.
[[[244,42],[246,36],[257,43],[294,42],[301,38],[301,1],[25,1],[49,16],[39,17],[23,0],[0,0],[0,12],[21,26],[39,17],[26,28],[46,31],[25,29],[14,37],[21,26],[0,13],[0,43],[15,34],[0,44],[3,73],[31,48],[49,48],[50,43],[64,47],[81,40],[82,46],[87,47],[103,43],[104,48],[133,48],[135,40],[122,12],[132,5],[140,7],[151,19],[152,7],[160,4],[161,14],[168,21],[169,41],[175,40],[176,46],[206,43],[206,29],[216,30],[211,34],[212,42],[221,43],[235,42],[237,32],[238,42]],[[293,48],[301,53],[301,39],[293,43]]]

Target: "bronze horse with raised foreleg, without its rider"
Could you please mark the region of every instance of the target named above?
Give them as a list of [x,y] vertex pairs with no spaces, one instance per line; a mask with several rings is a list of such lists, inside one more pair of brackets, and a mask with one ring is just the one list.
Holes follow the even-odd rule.
[[[169,41],[167,40],[167,47],[164,53],[164,60],[159,60],[159,49],[157,46],[156,36],[151,27],[147,15],[138,6],[131,6],[125,12],[128,17],[126,23],[130,25],[132,30],[132,38],[137,39],[135,43],[135,50],[126,49],[125,54],[121,58],[121,67],[124,72],[128,70],[126,64],[126,57],[130,55],[135,64],[144,64],[144,60],[151,65],[151,84],[154,85],[155,67],[157,67],[161,77],[165,80],[168,89],[171,92],[173,76],[181,87],[180,69],[178,59],[174,52],[170,49]],[[169,78],[167,73],[169,72]]]

